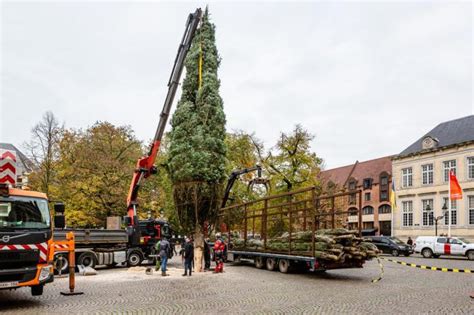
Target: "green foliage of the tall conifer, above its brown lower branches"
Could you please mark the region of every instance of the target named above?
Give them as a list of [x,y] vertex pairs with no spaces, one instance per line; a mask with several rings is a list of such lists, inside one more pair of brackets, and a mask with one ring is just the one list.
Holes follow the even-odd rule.
[[[215,27],[206,13],[186,58],[183,93],[171,120],[169,167],[173,183],[222,182],[225,176],[225,114],[219,96]],[[203,51],[203,82],[198,61]]]

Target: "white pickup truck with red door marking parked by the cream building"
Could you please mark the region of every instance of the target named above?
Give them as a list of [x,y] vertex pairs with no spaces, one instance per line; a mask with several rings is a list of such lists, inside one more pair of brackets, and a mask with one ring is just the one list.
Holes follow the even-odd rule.
[[419,236],[415,240],[415,252],[425,258],[453,255],[474,260],[474,243],[462,237]]

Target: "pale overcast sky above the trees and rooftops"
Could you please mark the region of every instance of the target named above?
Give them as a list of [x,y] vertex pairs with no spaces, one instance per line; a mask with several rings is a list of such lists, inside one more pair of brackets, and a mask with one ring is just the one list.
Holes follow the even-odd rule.
[[[21,146],[48,110],[66,127],[110,121],[150,140],[187,14],[205,5],[2,1],[0,141]],[[332,168],[474,112],[470,1],[209,7],[227,129],[268,147],[300,123]]]

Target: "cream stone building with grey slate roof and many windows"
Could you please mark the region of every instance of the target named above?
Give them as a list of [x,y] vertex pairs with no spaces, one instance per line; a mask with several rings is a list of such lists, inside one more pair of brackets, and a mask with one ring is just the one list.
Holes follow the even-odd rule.
[[449,172],[463,190],[451,201],[451,235],[474,239],[474,115],[441,123],[393,158],[401,238],[448,233]]

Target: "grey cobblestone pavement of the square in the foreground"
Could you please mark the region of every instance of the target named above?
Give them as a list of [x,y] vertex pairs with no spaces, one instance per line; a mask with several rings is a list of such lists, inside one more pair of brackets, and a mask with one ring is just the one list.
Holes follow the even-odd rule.
[[[470,268],[459,259],[397,257],[398,260],[439,267]],[[363,269],[324,274],[281,274],[251,265],[226,265],[224,274],[194,273],[182,277],[180,262],[170,264],[169,277],[145,275],[138,269],[99,270],[96,276],[77,276],[82,296],[64,297],[67,278],[31,297],[28,289],[0,291],[0,313],[439,313],[473,314],[474,274],[445,273],[383,262],[384,278],[376,261]]]

